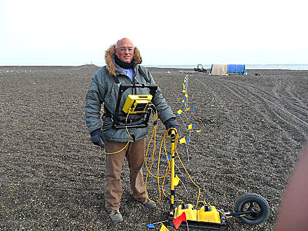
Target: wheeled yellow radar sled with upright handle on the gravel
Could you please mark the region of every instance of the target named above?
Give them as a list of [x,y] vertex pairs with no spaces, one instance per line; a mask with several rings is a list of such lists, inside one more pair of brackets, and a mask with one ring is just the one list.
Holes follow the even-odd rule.
[[[194,208],[193,204],[180,204],[174,207],[174,195],[176,186],[176,177],[174,176],[174,151],[175,151],[175,135],[172,131],[171,139],[171,197],[169,224],[176,229],[179,226],[188,226],[199,230],[227,230],[227,219],[232,217],[239,218],[243,223],[256,225],[264,222],[269,215],[269,205],[265,198],[255,193],[249,193],[239,197],[235,205],[235,212],[225,212],[223,209],[216,209],[207,202],[202,202],[202,207]],[[186,223],[178,223],[176,220],[185,214]]]

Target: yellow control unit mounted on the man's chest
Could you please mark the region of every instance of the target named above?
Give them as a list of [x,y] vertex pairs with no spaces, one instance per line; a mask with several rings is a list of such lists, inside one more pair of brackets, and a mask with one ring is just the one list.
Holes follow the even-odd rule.
[[129,94],[123,106],[125,113],[145,113],[148,103],[152,100],[151,94]]

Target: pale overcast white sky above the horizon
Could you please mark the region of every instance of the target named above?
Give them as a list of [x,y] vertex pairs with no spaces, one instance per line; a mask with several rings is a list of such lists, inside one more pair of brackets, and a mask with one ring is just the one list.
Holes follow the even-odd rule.
[[145,65],[308,64],[308,1],[0,0],[0,66],[103,66],[119,38]]

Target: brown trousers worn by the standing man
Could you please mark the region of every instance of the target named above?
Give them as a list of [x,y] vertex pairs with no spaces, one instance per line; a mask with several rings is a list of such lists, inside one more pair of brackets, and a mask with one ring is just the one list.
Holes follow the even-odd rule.
[[[124,148],[126,143],[106,142],[106,153],[113,153]],[[133,196],[140,202],[146,201],[146,187],[144,185],[144,151],[146,139],[130,143],[123,151],[116,154],[106,154],[106,186],[105,186],[105,208],[113,211],[120,208],[120,200],[123,193],[120,179],[124,158],[130,167],[130,186]]]

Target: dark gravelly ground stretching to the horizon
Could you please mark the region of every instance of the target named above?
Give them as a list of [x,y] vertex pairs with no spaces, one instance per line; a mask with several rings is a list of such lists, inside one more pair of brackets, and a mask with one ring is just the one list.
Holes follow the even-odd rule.
[[[134,202],[126,163],[120,209],[125,221],[111,223],[104,210],[104,154],[90,143],[83,122],[85,94],[97,69],[0,67],[0,230],[147,230],[146,224],[166,220],[166,197],[154,211]],[[174,113],[186,109],[181,102],[186,73],[155,68],[151,73]],[[265,223],[246,225],[232,218],[228,230],[273,230],[283,190],[308,138],[308,71],[248,73],[189,73],[188,106],[195,110],[178,117],[180,138],[189,136],[188,124],[195,127],[188,148],[179,144],[177,150],[201,188],[200,200],[225,211],[233,211],[246,193],[269,203]],[[159,123],[158,146],[163,132]],[[176,174],[181,178],[176,199],[195,204],[197,188],[179,162]],[[169,195],[169,179],[166,185]],[[148,193],[158,200],[154,179]]]

